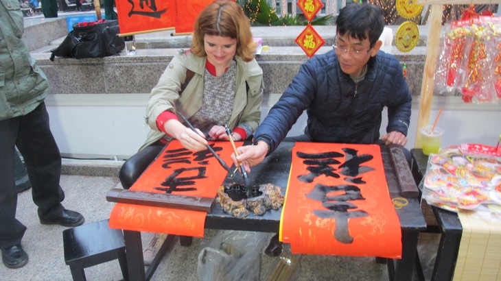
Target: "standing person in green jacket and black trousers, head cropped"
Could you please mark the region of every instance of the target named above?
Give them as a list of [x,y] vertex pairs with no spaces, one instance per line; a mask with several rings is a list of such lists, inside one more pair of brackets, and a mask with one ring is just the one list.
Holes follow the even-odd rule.
[[0,249],[9,268],[28,262],[21,247],[26,227],[16,219],[15,147],[25,160],[40,223],[73,227],[85,221],[61,204],[61,156],[44,103],[49,82],[21,40],[23,31],[19,1],[0,0]]

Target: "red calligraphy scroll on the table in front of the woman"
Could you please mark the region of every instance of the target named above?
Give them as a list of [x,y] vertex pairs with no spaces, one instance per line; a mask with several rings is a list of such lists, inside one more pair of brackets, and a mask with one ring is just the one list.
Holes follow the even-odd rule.
[[[231,162],[229,142],[209,142],[214,151]],[[132,191],[215,197],[226,177],[209,150],[193,152],[173,140],[130,187]],[[203,237],[206,212],[116,204],[110,214],[110,228]]]

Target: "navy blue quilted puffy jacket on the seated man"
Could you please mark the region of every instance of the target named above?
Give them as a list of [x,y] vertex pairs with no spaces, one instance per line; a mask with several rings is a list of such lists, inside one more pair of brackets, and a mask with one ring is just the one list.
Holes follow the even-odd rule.
[[334,51],[314,56],[301,66],[292,83],[254,134],[274,151],[307,110],[305,134],[325,143],[375,143],[380,138],[382,110],[388,108],[386,132],[407,135],[412,97],[395,56],[379,51],[368,62],[365,79],[353,82],[340,69]]

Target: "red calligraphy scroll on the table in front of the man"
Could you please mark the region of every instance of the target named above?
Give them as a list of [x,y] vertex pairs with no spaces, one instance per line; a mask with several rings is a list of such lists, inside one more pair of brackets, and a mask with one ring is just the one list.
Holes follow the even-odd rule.
[[296,143],[280,223],[293,253],[401,258],[378,145]]

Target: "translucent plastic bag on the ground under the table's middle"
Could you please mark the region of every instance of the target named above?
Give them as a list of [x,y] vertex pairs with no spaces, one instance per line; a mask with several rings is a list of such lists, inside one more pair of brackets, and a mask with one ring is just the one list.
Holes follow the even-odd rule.
[[198,254],[200,281],[259,280],[261,253],[269,233],[220,231]]

